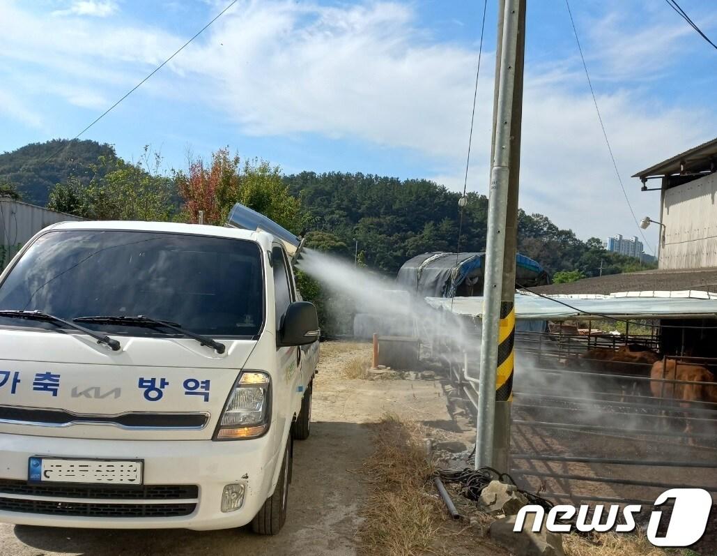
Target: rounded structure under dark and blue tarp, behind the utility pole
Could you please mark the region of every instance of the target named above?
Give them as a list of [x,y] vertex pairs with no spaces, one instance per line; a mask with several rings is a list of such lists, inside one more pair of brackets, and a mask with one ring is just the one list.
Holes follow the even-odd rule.
[[[424,253],[404,263],[396,285],[421,297],[480,296],[484,273],[485,253]],[[516,255],[516,286],[531,288],[549,283],[541,265],[525,255]]]

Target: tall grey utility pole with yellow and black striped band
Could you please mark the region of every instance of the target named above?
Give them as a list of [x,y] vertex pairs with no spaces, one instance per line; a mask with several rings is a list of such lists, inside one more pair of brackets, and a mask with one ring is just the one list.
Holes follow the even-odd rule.
[[508,471],[526,0],[498,1],[475,468]]

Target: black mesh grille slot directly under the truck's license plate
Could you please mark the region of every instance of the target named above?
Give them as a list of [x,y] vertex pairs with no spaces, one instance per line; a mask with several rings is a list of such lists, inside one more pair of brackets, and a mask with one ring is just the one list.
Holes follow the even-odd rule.
[[80,499],[181,500],[196,499],[199,496],[199,487],[196,484],[153,484],[144,486],[28,484],[26,481],[0,479],[0,496],[3,494]]

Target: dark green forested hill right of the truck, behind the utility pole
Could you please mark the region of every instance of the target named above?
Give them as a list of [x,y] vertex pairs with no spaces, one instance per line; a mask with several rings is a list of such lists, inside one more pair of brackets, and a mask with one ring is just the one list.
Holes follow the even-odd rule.
[[[455,251],[460,219],[460,194],[428,180],[406,180],[329,172],[302,172],[285,176],[310,215],[311,238],[326,250],[359,257],[370,268],[395,275],[414,255],[428,251]],[[468,194],[461,232],[461,251],[485,250],[488,199]],[[593,276],[629,272],[640,262],[602,248],[597,238],[579,240],[543,215],[518,215],[518,250],[549,273],[578,271]],[[579,277],[575,275],[575,277]]]

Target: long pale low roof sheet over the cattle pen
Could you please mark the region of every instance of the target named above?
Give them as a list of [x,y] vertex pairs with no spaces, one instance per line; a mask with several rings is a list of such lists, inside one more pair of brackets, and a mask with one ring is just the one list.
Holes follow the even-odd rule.
[[[426,297],[435,308],[453,314],[483,317],[483,297],[445,299]],[[549,296],[516,293],[516,319],[564,321],[575,317],[600,319],[679,319],[690,317],[715,318],[717,296],[706,292],[630,292],[610,296]]]

